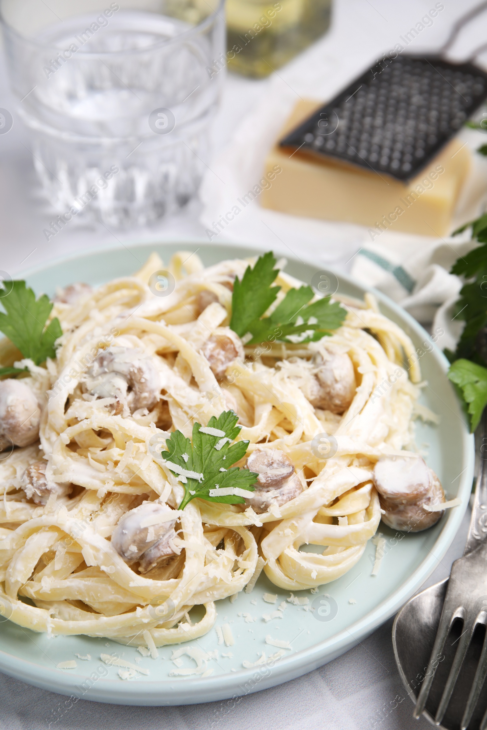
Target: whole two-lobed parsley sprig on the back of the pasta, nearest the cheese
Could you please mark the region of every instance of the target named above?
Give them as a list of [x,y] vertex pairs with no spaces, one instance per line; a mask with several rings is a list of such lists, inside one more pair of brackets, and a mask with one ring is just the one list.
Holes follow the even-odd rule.
[[248,268],[242,280],[235,279],[231,300],[230,327],[245,343],[258,345],[271,342],[315,342],[337,329],[346,312],[330,297],[318,299],[310,286],[290,289],[269,317],[263,317],[277,298],[280,286],[272,286],[279,269],[272,252],[265,253]]

